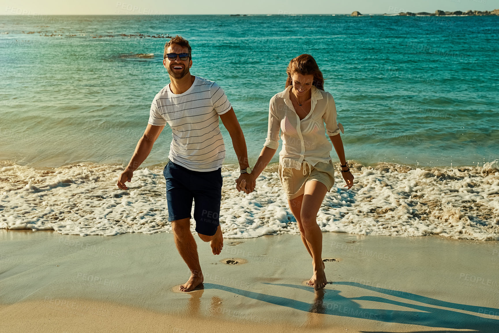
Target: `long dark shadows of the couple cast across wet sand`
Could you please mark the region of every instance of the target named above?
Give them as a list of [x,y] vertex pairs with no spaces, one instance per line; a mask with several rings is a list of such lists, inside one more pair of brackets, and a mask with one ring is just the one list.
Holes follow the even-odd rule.
[[[483,318],[458,311],[394,301],[378,296],[361,296],[361,297],[347,298],[339,295],[339,291],[330,290],[330,289],[325,289],[322,291],[315,292],[312,287],[308,286],[299,286],[299,285],[290,285],[290,284],[272,284],[272,283],[264,283],[264,284],[286,287],[286,288],[296,288],[308,291],[314,295],[314,300],[312,303],[306,303],[285,297],[260,294],[256,292],[251,292],[251,291],[246,291],[242,289],[226,287],[211,283],[205,283],[204,289],[223,290],[244,297],[248,297],[254,300],[266,302],[269,304],[279,305],[282,307],[292,308],[315,314],[362,318],[362,319],[370,319],[386,323],[422,325],[435,328],[469,329],[469,330],[476,330],[478,332],[499,332],[496,331],[499,330],[498,329],[499,320]],[[432,305],[432,306],[445,307],[456,310],[465,310],[477,314],[483,314],[484,312],[486,314],[487,313],[499,314],[499,309],[445,302],[432,299],[429,297],[419,296],[416,294],[400,293],[398,291],[390,289],[376,288],[354,282],[334,282],[334,284],[363,288],[380,294],[397,296],[398,298],[401,299],[408,299],[411,301],[416,301],[418,303]],[[358,303],[354,302],[355,300],[391,304],[404,308],[414,309],[416,311],[361,308]]]

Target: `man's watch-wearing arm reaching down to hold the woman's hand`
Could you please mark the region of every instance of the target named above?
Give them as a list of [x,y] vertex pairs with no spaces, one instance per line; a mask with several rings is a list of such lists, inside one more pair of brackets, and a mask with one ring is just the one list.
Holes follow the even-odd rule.
[[[250,166],[250,162],[248,161],[248,149],[246,147],[246,140],[245,136],[243,135],[243,130],[239,125],[239,121],[238,118],[236,117],[234,109],[231,107],[229,111],[227,111],[224,114],[221,114],[220,119],[222,119],[225,128],[227,128],[229,134],[231,135],[232,145],[234,146],[234,151],[238,156],[239,167],[241,168],[241,170],[244,170]],[[246,180],[247,188],[251,189],[254,188],[255,184],[253,184],[254,181],[251,181],[250,175],[247,173],[242,173],[241,176],[239,176],[239,179],[237,180],[236,189],[238,191],[241,192],[241,190],[243,191],[245,190],[239,186],[239,184],[243,179]]]

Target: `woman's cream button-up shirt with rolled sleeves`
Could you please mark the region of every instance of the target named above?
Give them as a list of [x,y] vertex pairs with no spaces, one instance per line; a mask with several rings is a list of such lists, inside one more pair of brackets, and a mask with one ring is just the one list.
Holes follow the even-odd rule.
[[312,86],[310,112],[300,120],[289,99],[291,88],[291,85],[288,86],[270,99],[267,139],[263,145],[277,149],[279,131],[282,131],[279,163],[284,168],[300,170],[303,161],[312,166],[317,162],[329,163],[332,145],[324,135],[324,123],[327,135],[340,132],[333,96]]

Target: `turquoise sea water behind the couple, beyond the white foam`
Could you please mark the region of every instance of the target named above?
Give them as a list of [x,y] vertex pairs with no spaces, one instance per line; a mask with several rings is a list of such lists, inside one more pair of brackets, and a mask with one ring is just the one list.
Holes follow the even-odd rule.
[[[1,16],[0,158],[126,163],[169,83],[167,39],[147,36],[158,34],[190,40],[191,73],[225,89],[253,161],[268,100],[301,53],[316,58],[336,100],[347,159],[447,166],[499,158],[499,17],[342,15]],[[223,133],[226,163],[235,162]],[[170,141],[165,128],[145,164],[164,162]]]

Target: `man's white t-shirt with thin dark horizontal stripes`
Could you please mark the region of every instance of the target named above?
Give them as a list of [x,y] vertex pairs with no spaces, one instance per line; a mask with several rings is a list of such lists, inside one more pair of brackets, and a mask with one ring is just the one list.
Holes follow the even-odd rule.
[[219,115],[231,109],[224,89],[196,76],[192,86],[174,94],[170,84],[161,89],[151,104],[149,124],[172,128],[168,158],[193,171],[214,171],[222,166],[225,145]]

